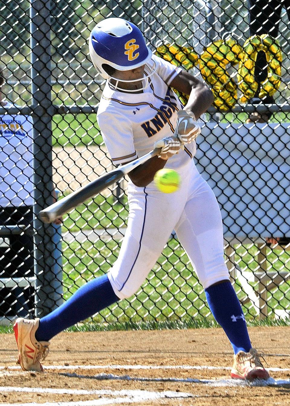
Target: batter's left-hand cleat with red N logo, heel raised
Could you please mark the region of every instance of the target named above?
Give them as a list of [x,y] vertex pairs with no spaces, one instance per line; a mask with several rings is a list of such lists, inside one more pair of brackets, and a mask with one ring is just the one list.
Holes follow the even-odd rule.
[[27,320],[23,317],[16,319],[13,330],[18,347],[18,362],[24,371],[43,371],[40,360],[44,360],[49,349],[49,341],[37,341],[35,332],[39,319]]

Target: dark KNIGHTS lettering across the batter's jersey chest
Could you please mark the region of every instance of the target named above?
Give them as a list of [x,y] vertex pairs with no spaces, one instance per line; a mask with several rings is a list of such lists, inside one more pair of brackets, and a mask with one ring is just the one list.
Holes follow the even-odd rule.
[[168,88],[163,104],[159,108],[155,117],[149,121],[145,121],[141,125],[148,137],[152,137],[157,134],[164,124],[168,123],[168,120],[172,116],[174,110],[178,111],[176,100],[170,99],[170,89]]

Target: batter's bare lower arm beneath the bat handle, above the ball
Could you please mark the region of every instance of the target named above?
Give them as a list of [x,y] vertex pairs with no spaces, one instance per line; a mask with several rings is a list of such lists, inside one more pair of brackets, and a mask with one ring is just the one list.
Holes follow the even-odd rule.
[[153,181],[154,175],[159,169],[164,168],[167,160],[153,156],[144,164],[137,166],[133,171],[129,172],[129,178],[134,185],[139,187],[147,186]]

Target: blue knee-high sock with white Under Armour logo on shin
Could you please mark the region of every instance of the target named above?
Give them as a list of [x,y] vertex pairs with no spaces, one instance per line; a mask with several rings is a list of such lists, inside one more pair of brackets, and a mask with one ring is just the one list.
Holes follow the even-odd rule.
[[249,352],[252,346],[246,321],[231,282],[207,287],[205,296],[214,318],[231,341],[234,353],[237,354],[240,350]]

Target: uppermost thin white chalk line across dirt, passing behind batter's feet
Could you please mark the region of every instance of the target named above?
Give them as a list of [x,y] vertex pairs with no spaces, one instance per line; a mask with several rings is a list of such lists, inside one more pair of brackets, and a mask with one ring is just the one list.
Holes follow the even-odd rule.
[[[210,365],[47,365],[43,366],[44,369],[208,369],[208,370],[227,370],[229,371],[231,367],[213,367]],[[2,369],[21,369],[19,366],[0,366]],[[267,371],[279,372],[279,371],[290,371],[290,368],[265,368]]]

